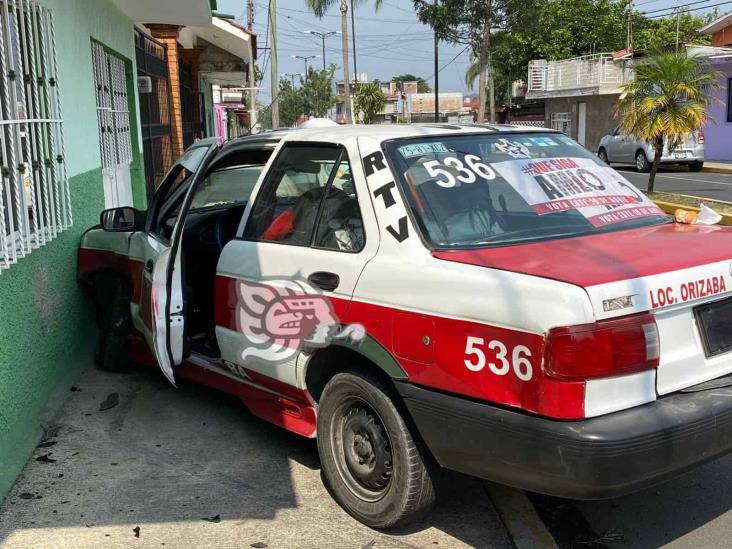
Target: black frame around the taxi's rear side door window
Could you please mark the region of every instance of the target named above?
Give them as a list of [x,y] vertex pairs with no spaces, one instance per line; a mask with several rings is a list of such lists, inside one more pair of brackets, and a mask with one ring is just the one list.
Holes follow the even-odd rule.
[[[288,149],[294,149],[294,148],[314,148],[314,147],[322,147],[327,149],[337,149],[339,151],[338,157],[336,159],[336,163],[334,164],[334,169],[331,172],[331,174],[328,176],[328,181],[325,184],[325,193],[323,195],[323,198],[320,200],[320,203],[318,204],[318,213],[315,216],[315,222],[313,223],[313,228],[310,233],[310,238],[308,239],[308,244],[303,246],[297,246],[295,244],[290,244],[288,242],[280,242],[275,240],[261,240],[260,238],[251,238],[246,236],[247,234],[247,227],[249,226],[249,223],[252,222],[254,219],[254,212],[257,209],[257,205],[259,204],[260,200],[263,199],[264,193],[267,191],[268,186],[272,182],[273,174],[275,171],[275,168],[277,166],[277,163],[281,160],[282,156]],[[356,194],[356,204],[358,205],[358,213],[361,217],[361,223],[363,225],[363,241],[361,243],[361,247],[358,250],[336,250],[333,248],[326,248],[324,246],[316,246],[315,245],[315,238],[318,234],[318,227],[320,226],[320,220],[322,219],[323,215],[323,208],[325,206],[325,196],[327,195],[328,189],[331,188],[333,185],[333,181],[335,180],[335,177],[337,175],[337,168],[340,163],[343,161],[343,159],[346,159],[348,161],[348,165],[351,168],[351,174],[354,177],[354,192]],[[276,192],[276,189],[275,189]],[[247,219],[244,220],[244,230],[242,231],[241,236],[238,236],[237,240],[243,240],[245,242],[252,242],[255,244],[280,244],[283,246],[291,246],[293,248],[308,248],[313,250],[323,250],[326,252],[336,252],[336,253],[346,253],[346,254],[358,254],[361,253],[366,248],[366,241],[367,241],[367,231],[366,231],[366,225],[363,222],[363,209],[361,208],[361,201],[359,199],[359,193],[356,189],[355,185],[355,174],[353,173],[353,163],[351,162],[351,159],[348,155],[348,149],[341,143],[332,143],[327,141],[287,141],[282,144],[282,146],[277,151],[277,154],[272,159],[271,164],[269,165],[269,169],[267,170],[267,173],[264,175],[264,179],[262,180],[261,185],[259,185],[259,189],[257,191],[257,195],[252,200],[252,206],[251,209],[247,213]]]

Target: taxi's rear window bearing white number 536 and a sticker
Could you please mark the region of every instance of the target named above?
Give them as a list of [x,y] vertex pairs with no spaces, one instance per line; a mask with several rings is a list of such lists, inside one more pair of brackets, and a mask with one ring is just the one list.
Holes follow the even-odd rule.
[[668,216],[569,137],[532,132],[385,144],[435,247],[516,244],[665,223]]

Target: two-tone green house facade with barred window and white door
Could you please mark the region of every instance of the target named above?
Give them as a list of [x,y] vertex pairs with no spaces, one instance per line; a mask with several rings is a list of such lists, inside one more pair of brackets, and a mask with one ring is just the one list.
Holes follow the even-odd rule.
[[146,207],[134,24],[205,24],[208,0],[0,0],[0,498],[89,363],[81,233]]

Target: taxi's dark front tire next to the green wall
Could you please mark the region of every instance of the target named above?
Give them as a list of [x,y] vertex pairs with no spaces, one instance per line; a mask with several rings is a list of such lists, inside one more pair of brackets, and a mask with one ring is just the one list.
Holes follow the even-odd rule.
[[105,290],[97,300],[99,337],[94,358],[102,370],[129,372],[132,370],[127,353],[127,336],[132,325],[130,293],[121,280],[111,281]]

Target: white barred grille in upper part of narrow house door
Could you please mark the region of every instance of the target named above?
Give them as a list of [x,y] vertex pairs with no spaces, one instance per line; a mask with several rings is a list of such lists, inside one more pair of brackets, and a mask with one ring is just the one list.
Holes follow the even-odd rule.
[[132,162],[125,63],[97,42],[92,42],[92,58],[102,168],[116,168]]

